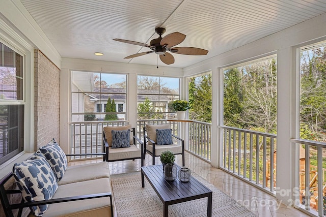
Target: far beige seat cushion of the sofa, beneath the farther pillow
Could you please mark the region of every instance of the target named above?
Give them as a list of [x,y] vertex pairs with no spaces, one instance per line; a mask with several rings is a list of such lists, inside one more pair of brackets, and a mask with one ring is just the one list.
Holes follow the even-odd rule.
[[110,178],[108,162],[98,162],[67,167],[65,175],[58,181],[58,184],[69,184],[98,178]]

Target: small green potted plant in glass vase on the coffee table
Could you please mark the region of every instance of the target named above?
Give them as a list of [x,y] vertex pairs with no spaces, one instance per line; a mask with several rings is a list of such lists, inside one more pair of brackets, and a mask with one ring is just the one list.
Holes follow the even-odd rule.
[[175,156],[172,151],[164,151],[160,155],[163,164],[164,178],[168,181],[173,181],[177,177],[177,168],[174,165]]

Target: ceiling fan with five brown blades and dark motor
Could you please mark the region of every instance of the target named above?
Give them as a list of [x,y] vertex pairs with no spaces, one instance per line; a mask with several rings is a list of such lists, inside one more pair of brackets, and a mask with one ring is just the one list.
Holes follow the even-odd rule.
[[140,45],[151,49],[151,51],[135,53],[130,56],[126,56],[124,57],[125,59],[129,59],[137,56],[143,56],[145,54],[155,52],[156,54],[159,55],[160,60],[167,65],[174,64],[173,55],[168,53],[167,51],[170,51],[172,53],[185,54],[185,55],[206,55],[208,53],[208,50],[204,50],[196,47],[173,47],[180,44],[185,39],[186,36],[183,35],[182,33],[175,32],[162,38],[161,36],[162,34],[165,33],[165,28],[162,27],[155,28],[155,32],[159,35],[159,37],[157,39],[151,40],[149,45],[141,42],[134,42],[134,41],[124,40],[124,39],[113,39],[113,40],[118,42],[128,43],[128,44]]

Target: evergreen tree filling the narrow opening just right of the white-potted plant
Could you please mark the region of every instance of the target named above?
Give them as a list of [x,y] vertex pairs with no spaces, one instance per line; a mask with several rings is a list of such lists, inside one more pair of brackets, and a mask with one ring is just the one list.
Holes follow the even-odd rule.
[[189,83],[189,118],[204,122],[212,119],[211,74],[192,78]]

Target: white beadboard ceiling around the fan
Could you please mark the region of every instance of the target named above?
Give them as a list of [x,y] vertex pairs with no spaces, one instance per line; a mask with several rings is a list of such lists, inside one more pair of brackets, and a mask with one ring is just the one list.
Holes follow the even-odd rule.
[[[208,50],[204,56],[173,54],[184,68],[326,12],[324,0],[20,0],[62,57],[157,64],[157,54],[124,59],[149,48],[155,27],[186,39],[177,46]],[[103,56],[95,56],[102,52]],[[158,59],[158,66],[167,66]]]

